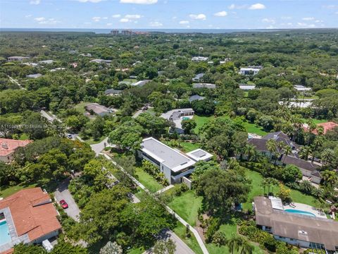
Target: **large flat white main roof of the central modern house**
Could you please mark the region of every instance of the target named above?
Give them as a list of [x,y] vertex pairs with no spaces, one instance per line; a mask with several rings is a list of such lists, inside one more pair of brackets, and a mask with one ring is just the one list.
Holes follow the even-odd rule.
[[155,138],[145,138],[142,140],[141,150],[174,172],[186,169],[196,163],[193,159],[177,152]]

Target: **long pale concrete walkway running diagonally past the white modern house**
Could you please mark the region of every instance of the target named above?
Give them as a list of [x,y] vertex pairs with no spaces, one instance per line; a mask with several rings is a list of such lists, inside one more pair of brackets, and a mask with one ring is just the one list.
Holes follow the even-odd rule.
[[[139,186],[139,188],[142,188],[142,190],[144,190],[149,195],[153,195],[146,187],[144,187],[144,185],[142,183],[137,181],[137,179],[135,179],[133,176],[128,174],[127,171],[125,171],[125,169],[123,169],[123,167],[120,167],[119,164],[114,162],[113,159],[111,159],[111,157],[109,157],[106,154],[101,154],[101,155],[104,155],[104,157],[106,157],[106,159],[110,160],[116,167],[118,167],[121,171],[123,171],[130,179],[132,179],[132,181],[134,183],[137,184],[137,186]],[[156,197],[154,197],[154,198],[156,198]],[[204,245],[204,241],[202,240],[201,236],[199,236],[199,233],[196,231],[196,229],[194,229],[194,227],[189,225],[184,219],[182,219],[180,217],[180,215],[178,215],[176,212],[174,212],[170,207],[168,207],[167,205],[164,205],[164,207],[165,207],[165,210],[167,210],[170,214],[173,214],[173,216],[176,219],[178,219],[184,226],[187,226],[187,225],[189,226],[190,231],[192,231],[192,234],[194,234],[194,236],[195,236],[197,242],[199,243],[199,246],[201,247],[201,250],[203,251],[203,253],[208,254],[208,250],[206,249],[206,246]]]

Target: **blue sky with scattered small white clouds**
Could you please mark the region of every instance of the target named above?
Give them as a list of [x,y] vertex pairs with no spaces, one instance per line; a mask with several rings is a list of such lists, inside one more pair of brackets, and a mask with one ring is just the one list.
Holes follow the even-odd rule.
[[338,28],[338,0],[0,0],[1,28]]

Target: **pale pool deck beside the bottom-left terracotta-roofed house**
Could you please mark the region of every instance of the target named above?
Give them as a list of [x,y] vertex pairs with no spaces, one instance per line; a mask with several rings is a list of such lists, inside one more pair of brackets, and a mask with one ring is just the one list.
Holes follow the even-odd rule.
[[23,236],[18,236],[18,234],[16,233],[11,210],[8,207],[5,207],[4,209],[0,209],[0,213],[1,212],[4,212],[5,214],[9,234],[11,234],[12,240],[0,246],[0,253],[12,248],[18,243],[29,243],[30,238],[27,236],[27,234],[24,234]]

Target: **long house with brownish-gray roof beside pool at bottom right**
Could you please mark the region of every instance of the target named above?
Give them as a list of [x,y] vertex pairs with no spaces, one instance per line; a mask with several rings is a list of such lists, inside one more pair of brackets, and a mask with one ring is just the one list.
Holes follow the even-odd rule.
[[302,248],[338,249],[338,222],[273,208],[270,198],[255,197],[256,224],[274,238]]

